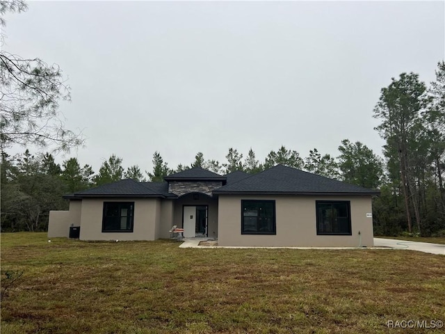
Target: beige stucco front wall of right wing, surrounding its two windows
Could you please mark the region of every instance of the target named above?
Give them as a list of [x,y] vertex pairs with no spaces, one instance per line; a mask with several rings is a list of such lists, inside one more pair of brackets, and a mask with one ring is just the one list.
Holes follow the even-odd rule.
[[[275,200],[277,233],[241,234],[241,200]],[[317,235],[316,200],[349,200],[352,235]],[[218,244],[371,247],[373,219],[366,216],[371,212],[371,196],[219,196]]]

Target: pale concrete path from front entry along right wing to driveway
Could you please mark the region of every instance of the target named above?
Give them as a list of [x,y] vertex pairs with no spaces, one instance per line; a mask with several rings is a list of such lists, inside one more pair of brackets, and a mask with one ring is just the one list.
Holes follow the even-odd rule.
[[180,248],[289,248],[289,249],[410,249],[419,250],[420,252],[445,255],[445,245],[429,244],[426,242],[381,239],[374,238],[374,247],[358,248],[358,247],[242,247],[242,246],[199,246],[201,241],[207,241],[209,238],[186,238],[179,245]]

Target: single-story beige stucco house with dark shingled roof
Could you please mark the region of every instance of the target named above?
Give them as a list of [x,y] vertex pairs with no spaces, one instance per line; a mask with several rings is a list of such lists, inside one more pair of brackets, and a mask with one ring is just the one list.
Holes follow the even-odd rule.
[[81,240],[218,239],[220,246],[373,246],[378,191],[277,165],[254,175],[192,168],[164,182],[121,180],[64,198],[49,213],[48,237]]

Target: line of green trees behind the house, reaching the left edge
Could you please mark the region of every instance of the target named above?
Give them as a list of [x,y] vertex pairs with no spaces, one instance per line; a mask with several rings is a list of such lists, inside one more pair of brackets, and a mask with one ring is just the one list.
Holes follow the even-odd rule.
[[[359,159],[363,148],[369,156]],[[3,151],[1,154],[1,230],[46,230],[50,210],[67,209],[67,201],[62,196],[101,186],[118,180],[131,178],[138,182],[163,182],[163,177],[188,168],[200,167],[214,173],[225,175],[236,170],[245,173],[259,173],[266,168],[283,164],[294,168],[301,168],[326,177],[336,177],[348,182],[358,182],[367,187],[377,188],[382,170],[379,158],[362,143],[341,143],[341,154],[336,161],[329,154],[319,154],[316,149],[309,152],[303,159],[295,150],[288,150],[284,145],[277,151],[270,151],[264,161],[259,161],[254,150],[250,148],[243,159],[243,154],[234,148],[229,148],[226,159],[220,163],[214,159],[204,159],[202,152],[197,152],[190,164],[179,164],[177,168],[169,168],[160,152],[154,152],[152,158],[153,170],[143,173],[139,166],[133,165],[125,170],[122,158],[111,154],[102,162],[97,173],[92,166],[81,166],[72,157],[63,161],[61,166],[56,164],[54,157],[49,154],[33,155],[29,150],[10,157]],[[339,149],[340,149],[339,148]],[[371,157],[367,161],[366,159]],[[358,166],[357,166],[358,164]],[[354,169],[355,168],[355,169]],[[344,177],[340,173],[346,170]],[[370,177],[374,173],[375,177]],[[375,182],[369,182],[374,180]]]

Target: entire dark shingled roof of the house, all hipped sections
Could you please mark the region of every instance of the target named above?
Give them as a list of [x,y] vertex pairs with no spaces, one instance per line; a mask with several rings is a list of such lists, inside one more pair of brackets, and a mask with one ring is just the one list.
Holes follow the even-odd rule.
[[[298,194],[298,195],[378,195],[379,191],[355,186],[296,168],[277,165],[261,173],[248,175],[241,171],[221,176],[202,168],[192,168],[166,177],[168,180],[223,181],[227,184],[213,191],[214,194]],[[63,198],[81,199],[95,197],[159,197],[177,198],[168,192],[168,182],[136,182],[127,179],[104,184],[85,191],[70,193]]]

